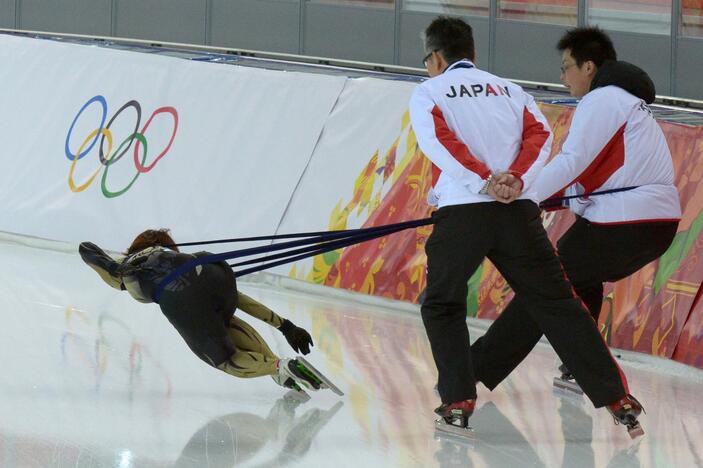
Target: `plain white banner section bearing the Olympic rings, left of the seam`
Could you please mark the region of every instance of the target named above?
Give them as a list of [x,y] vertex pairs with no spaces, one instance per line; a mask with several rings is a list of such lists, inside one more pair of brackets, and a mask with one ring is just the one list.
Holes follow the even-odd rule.
[[0,231],[276,230],[346,78],[0,35]]

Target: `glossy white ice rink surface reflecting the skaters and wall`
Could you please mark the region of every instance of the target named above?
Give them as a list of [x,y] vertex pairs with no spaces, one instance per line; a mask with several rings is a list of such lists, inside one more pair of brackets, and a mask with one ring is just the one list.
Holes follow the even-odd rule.
[[0,242],[0,258],[2,467],[703,466],[703,372],[622,361],[647,410],[632,441],[585,397],[555,395],[555,354],[538,345],[494,392],[479,385],[473,440],[438,439],[419,315],[241,283],[311,332],[309,360],[346,393],[300,404],[268,377],[205,365],[156,305],[109,288],[77,253]]

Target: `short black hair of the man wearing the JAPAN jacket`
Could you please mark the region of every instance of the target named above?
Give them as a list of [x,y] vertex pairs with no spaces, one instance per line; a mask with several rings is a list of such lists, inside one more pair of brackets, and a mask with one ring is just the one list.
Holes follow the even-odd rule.
[[438,16],[425,29],[425,50],[438,51],[450,65],[476,55],[471,26],[460,18]]

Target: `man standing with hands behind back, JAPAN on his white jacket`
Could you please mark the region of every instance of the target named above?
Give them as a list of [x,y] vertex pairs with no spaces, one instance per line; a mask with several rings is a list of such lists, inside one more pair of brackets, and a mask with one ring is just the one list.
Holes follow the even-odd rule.
[[[627,383],[573,294],[536,204],[535,179],[552,140],[546,119],[519,86],[476,68],[471,27],[462,20],[435,19],[425,31],[425,49],[431,78],[414,91],[410,117],[432,161],[429,198],[439,207],[426,244],[422,304],[439,371],[442,405],[435,411],[465,427],[475,405],[466,294],[485,257],[515,290],[522,319],[547,336],[593,404],[622,406]],[[502,203],[513,198],[506,190],[521,196]],[[511,343],[501,346],[509,350]],[[483,365],[490,367],[489,357]]]

